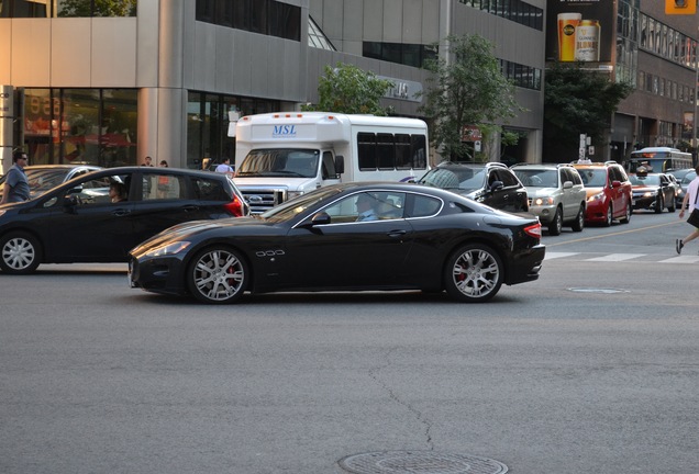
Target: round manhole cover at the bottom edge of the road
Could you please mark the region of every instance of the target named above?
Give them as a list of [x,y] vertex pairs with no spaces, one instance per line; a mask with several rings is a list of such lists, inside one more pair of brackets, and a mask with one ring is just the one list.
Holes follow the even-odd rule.
[[340,467],[355,474],[503,474],[508,466],[487,458],[432,451],[382,451],[353,454]]

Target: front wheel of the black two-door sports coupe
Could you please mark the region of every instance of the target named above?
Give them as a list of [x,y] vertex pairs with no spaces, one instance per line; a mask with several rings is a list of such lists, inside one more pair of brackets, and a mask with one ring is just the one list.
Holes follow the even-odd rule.
[[249,272],[243,256],[229,247],[200,251],[189,264],[187,287],[204,303],[233,303],[243,296]]

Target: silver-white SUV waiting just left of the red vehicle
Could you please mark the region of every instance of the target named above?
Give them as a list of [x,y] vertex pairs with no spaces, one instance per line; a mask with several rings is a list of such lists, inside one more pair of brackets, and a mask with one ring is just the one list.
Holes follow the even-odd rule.
[[539,216],[548,234],[559,235],[564,225],[585,227],[586,192],[582,179],[570,165],[515,165],[514,174],[526,187],[529,212]]

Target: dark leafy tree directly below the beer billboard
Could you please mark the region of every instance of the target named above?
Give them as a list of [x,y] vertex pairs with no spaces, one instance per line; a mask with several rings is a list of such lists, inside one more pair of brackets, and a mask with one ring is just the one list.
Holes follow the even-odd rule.
[[613,82],[581,65],[554,64],[546,70],[544,92],[544,160],[568,162],[578,158],[580,134],[604,145],[610,120],[633,86]]

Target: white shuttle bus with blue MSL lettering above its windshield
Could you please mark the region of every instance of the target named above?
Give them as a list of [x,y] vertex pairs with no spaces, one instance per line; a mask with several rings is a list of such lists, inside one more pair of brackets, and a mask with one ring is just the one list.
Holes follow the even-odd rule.
[[317,188],[407,181],[429,169],[417,119],[331,112],[248,115],[235,125],[235,184],[254,214]]

